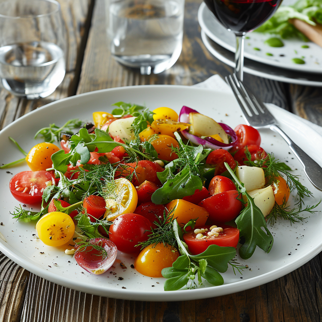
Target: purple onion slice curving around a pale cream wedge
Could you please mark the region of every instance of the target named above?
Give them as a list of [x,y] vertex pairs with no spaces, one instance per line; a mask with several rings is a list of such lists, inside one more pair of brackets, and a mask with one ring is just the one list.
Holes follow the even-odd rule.
[[[189,123],[189,121],[190,121],[189,113],[199,113],[199,112],[196,111],[195,109],[191,109],[190,107],[183,106],[180,111],[179,121],[183,122],[183,123]],[[229,127],[227,124],[225,124],[225,123],[218,123],[218,124],[232,138],[231,143],[225,144],[223,142],[217,141],[213,137],[205,137],[202,139],[201,137],[197,137],[193,134],[190,134],[186,130],[181,131],[181,133],[186,139],[190,140],[190,142],[192,142],[194,144],[201,144],[204,148],[209,148],[209,149],[213,149],[213,150],[223,148],[224,150],[228,150],[234,145],[235,141],[237,140],[237,135],[236,135],[235,131],[231,127]]]

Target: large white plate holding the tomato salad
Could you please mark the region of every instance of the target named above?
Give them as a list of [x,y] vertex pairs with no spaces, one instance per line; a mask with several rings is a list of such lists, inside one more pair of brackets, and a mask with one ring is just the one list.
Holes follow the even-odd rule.
[[[62,125],[71,118],[91,121],[92,112],[110,111],[111,104],[118,101],[145,104],[150,109],[168,106],[177,112],[183,105],[196,109],[211,116],[219,122],[229,124],[232,128],[244,123],[241,111],[234,97],[222,92],[197,89],[185,86],[133,86],[110,90],[100,90],[62,99],[37,109],[14,121],[0,132],[1,163],[8,163],[22,157],[21,153],[8,140],[14,139],[26,151],[29,151],[37,141],[34,133],[49,123]],[[279,120],[281,128],[302,147],[317,162],[322,163],[322,137],[314,130],[295,118],[289,112],[270,107]],[[317,204],[322,192],[317,191],[309,183],[302,171],[302,166],[288,145],[278,135],[270,130],[260,130],[261,146],[267,152],[285,160],[294,169],[294,174],[300,176],[301,182],[312,192],[313,197],[306,204]],[[314,139],[313,139],[314,138]],[[233,274],[232,268],[223,273],[224,284],[213,287],[205,283],[198,289],[181,289],[165,292],[163,278],[150,278],[141,275],[131,268],[134,258],[119,253],[115,268],[102,275],[91,275],[82,270],[71,255],[66,255],[64,249],[45,246],[35,235],[35,223],[20,223],[12,219],[9,212],[14,210],[18,202],[9,191],[9,181],[20,171],[28,170],[26,165],[0,170],[2,194],[0,195],[0,251],[25,269],[52,282],[65,287],[87,293],[143,301],[178,301],[199,298],[209,298],[230,294],[253,288],[277,279],[306,263],[322,250],[320,238],[322,216],[320,205],[318,213],[311,215],[303,223],[290,225],[289,222],[277,221],[270,231],[274,236],[274,245],[269,254],[259,248],[249,260],[237,259],[247,264],[249,269],[243,275]],[[290,198],[294,204],[294,196]],[[303,214],[307,216],[308,214]],[[121,268],[120,262],[127,267]]]

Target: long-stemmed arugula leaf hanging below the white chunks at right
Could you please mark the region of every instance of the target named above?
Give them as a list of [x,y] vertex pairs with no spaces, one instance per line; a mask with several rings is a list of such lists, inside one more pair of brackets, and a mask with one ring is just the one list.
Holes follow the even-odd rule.
[[[244,184],[241,183],[228,163],[224,163],[229,173],[237,183],[236,189],[247,198],[247,207],[242,210],[236,218],[235,223],[239,229],[239,235],[244,240],[239,249],[239,255],[242,259],[248,259],[254,253],[256,246],[269,253],[273,246],[273,236],[267,228],[263,213],[255,205],[253,198],[246,192]],[[261,229],[263,227],[266,233]]]

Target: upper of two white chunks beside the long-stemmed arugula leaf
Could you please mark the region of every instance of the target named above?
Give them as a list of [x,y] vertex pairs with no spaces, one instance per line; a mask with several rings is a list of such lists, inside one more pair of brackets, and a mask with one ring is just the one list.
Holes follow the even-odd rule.
[[239,166],[236,176],[244,184],[246,191],[260,189],[265,185],[264,170],[257,166]]

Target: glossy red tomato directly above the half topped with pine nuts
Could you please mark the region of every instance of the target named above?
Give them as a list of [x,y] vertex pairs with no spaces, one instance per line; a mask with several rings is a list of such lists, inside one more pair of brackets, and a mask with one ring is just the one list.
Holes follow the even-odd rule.
[[204,199],[198,206],[204,207],[209,219],[216,223],[225,223],[237,217],[242,209],[241,198],[237,190],[224,191]]

